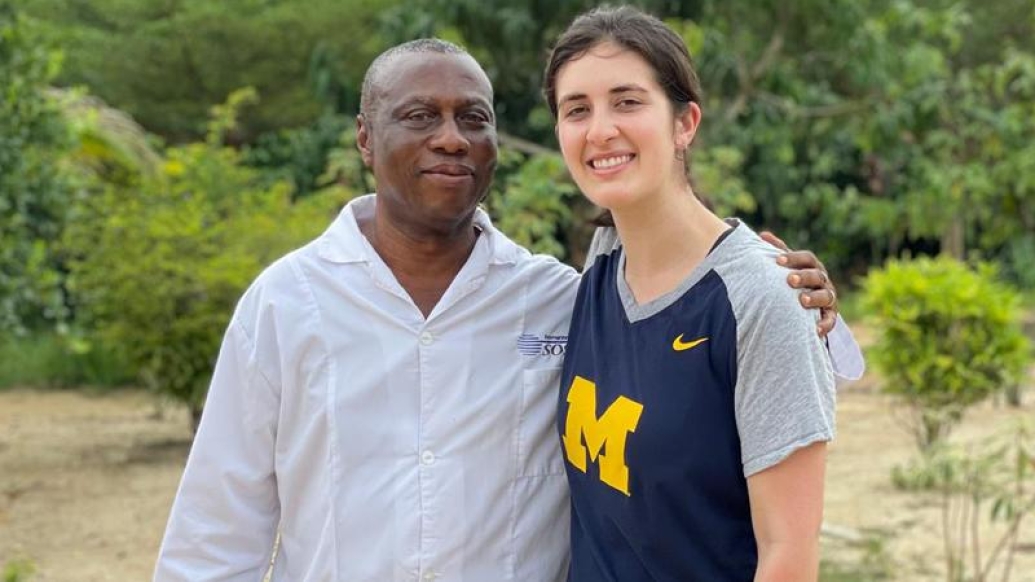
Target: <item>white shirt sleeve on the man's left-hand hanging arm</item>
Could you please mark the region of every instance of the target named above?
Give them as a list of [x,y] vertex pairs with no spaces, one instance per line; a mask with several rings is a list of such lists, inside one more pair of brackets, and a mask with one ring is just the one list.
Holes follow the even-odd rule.
[[262,580],[279,520],[273,450],[279,394],[235,317],[158,553],[154,582]]

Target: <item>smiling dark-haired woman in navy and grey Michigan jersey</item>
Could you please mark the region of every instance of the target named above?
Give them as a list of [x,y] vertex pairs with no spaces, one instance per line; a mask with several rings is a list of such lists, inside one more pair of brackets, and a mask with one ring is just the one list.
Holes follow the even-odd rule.
[[559,38],[544,91],[572,177],[614,222],[558,403],[568,580],[816,580],[831,365],[778,252],[693,193],[685,45],[634,8],[596,9]]

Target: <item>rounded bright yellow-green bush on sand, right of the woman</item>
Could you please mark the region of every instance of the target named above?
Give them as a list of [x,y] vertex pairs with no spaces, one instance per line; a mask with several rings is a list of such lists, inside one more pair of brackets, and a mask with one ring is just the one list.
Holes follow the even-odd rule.
[[996,274],[939,257],[889,261],[866,278],[864,303],[880,329],[869,355],[885,389],[912,407],[921,448],[966,407],[1021,381],[1029,346],[1019,297]]

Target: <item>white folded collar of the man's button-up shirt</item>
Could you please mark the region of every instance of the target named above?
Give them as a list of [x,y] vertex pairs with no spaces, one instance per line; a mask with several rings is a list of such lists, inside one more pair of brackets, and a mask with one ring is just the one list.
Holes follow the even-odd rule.
[[[360,196],[349,202],[338,213],[330,227],[317,239],[317,254],[331,263],[369,262],[375,253],[369,241],[359,230],[357,219],[374,215],[377,195]],[[474,226],[481,231],[479,244],[489,244],[489,263],[493,265],[513,264],[523,253],[527,253],[503,233],[496,230],[489,213],[481,207],[474,211]]]

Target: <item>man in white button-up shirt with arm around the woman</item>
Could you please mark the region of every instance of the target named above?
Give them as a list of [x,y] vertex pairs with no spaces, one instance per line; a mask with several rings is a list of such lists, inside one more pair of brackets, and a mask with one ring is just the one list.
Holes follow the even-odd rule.
[[[277,582],[561,581],[555,411],[579,275],[478,209],[497,137],[467,53],[383,54],[357,133],[378,193],[242,297],[154,580],[262,580],[279,533]],[[845,333],[835,367],[858,355]]]

